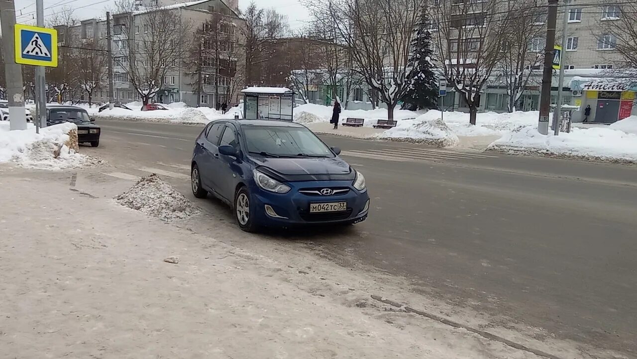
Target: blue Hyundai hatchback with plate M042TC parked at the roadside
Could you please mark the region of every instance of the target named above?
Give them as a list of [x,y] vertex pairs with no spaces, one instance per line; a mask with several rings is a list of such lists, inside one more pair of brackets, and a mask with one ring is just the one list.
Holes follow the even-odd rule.
[[359,223],[369,210],[365,178],[338,154],[300,124],[210,122],[192,154],[192,193],[230,205],[244,231]]

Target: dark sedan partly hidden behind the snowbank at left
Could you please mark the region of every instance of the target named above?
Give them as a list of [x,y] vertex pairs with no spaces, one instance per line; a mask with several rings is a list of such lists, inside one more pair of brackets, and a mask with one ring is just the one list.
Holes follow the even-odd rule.
[[47,107],[47,125],[71,122],[78,126],[78,142],[90,143],[91,146],[99,146],[101,129],[93,123],[89,113],[77,106],[51,106]]

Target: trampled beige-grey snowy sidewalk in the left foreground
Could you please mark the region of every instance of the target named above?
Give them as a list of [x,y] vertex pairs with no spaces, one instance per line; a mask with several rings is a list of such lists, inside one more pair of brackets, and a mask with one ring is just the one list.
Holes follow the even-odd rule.
[[375,301],[364,277],[343,284],[359,275],[347,268],[313,260],[341,273],[332,282],[298,256],[222,241],[235,231],[197,235],[74,184],[70,173],[0,179],[0,357],[538,358]]

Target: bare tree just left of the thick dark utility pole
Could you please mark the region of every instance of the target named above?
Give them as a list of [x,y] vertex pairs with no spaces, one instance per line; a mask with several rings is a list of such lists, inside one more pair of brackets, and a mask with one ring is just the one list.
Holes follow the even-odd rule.
[[518,102],[532,75],[541,69],[544,59],[543,35],[547,11],[538,11],[534,3],[525,0],[513,5],[515,16],[508,23],[508,35],[503,41],[503,57],[496,75],[506,87],[508,112],[517,109]]

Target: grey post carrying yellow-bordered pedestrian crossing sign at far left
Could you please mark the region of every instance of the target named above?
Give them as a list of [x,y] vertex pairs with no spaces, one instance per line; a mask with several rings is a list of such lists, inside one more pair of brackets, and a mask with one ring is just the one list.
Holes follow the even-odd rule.
[[[44,22],[41,15],[41,0],[38,0],[38,24]],[[41,21],[40,21],[41,20]],[[36,68],[36,131],[47,126],[47,94],[43,66],[57,67],[57,31],[46,27],[15,25],[15,62],[38,66]]]

